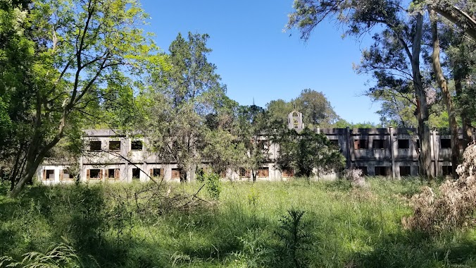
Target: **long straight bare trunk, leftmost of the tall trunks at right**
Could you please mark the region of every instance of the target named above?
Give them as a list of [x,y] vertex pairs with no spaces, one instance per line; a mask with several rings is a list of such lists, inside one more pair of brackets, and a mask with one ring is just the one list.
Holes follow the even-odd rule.
[[415,87],[415,97],[417,99],[418,137],[420,138],[420,176],[432,180],[432,154],[430,146],[430,128],[428,127],[428,105],[426,92],[423,89],[422,76],[420,73],[420,51],[423,32],[423,16],[416,15],[416,32],[413,37],[411,68],[413,74],[413,84]]

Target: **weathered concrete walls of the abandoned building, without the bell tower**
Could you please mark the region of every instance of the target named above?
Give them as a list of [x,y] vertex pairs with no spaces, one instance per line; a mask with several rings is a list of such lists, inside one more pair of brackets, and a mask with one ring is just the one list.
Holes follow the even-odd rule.
[[[385,176],[401,178],[408,173],[411,176],[418,175],[418,137],[416,129],[412,128],[317,128],[318,133],[324,133],[329,140],[337,143],[340,152],[346,157],[348,168],[366,169],[369,176],[375,176],[377,172],[382,173],[382,169],[387,172]],[[125,135],[117,135],[113,130],[84,130],[84,147],[87,149],[80,158],[80,180],[83,182],[107,181],[107,182],[131,182],[134,169],[140,169],[137,181],[145,182],[151,178],[151,169],[162,169],[162,176],[165,181],[180,181],[173,178],[177,175],[177,164],[165,164],[158,159],[156,154],[147,150],[150,147],[149,140],[144,138],[129,138]],[[449,139],[449,135],[439,135],[433,131],[431,140],[432,173],[437,176],[451,170],[451,148],[441,147],[441,140]],[[134,140],[142,141],[142,150],[132,150]],[[268,163],[263,164],[263,168],[268,169],[268,176],[258,176],[259,181],[279,181],[287,180],[283,177],[282,171],[277,169],[275,159],[279,154],[279,145],[266,142],[261,137],[258,140],[265,142],[264,150],[268,152]],[[100,150],[91,151],[89,145],[91,141],[101,142]],[[112,142],[120,142],[119,150],[111,150]],[[402,145],[406,145],[403,146]],[[203,164],[206,166],[206,163]],[[70,183],[72,180],[61,180],[62,169],[68,166],[61,164],[44,164],[39,167],[37,177],[45,184]],[[102,177],[99,179],[87,176],[88,170],[100,169]],[[118,176],[108,178],[109,169],[118,169]],[[44,179],[44,170],[54,170],[51,178]],[[251,180],[240,176],[237,171],[227,171],[226,179],[231,180]],[[187,172],[187,178],[194,179],[194,171]],[[321,178],[334,179],[337,174],[331,173]]]

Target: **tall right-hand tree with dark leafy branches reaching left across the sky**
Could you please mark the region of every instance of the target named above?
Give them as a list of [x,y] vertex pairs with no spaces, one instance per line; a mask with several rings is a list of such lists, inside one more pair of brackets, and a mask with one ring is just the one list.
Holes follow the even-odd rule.
[[[399,63],[408,66],[407,75],[411,76],[413,91],[417,102],[415,117],[418,120],[418,135],[420,137],[420,175],[432,178],[430,154],[430,128],[428,126],[429,110],[427,96],[420,72],[420,51],[422,43],[423,16],[422,13],[408,16],[398,0],[365,0],[365,1],[338,1],[338,0],[296,0],[295,11],[289,15],[287,28],[299,28],[301,37],[307,39],[313,29],[325,18],[337,16],[339,22],[344,23],[347,35],[362,35],[369,32],[376,25],[384,27],[382,35],[385,42],[392,37],[395,46],[394,54],[398,54],[405,61]],[[377,45],[378,46],[378,45]],[[398,46],[399,49],[396,49]],[[377,47],[375,47],[377,48]],[[375,69],[380,68],[385,78],[394,74],[386,71],[386,61],[393,59],[382,58]],[[395,68],[394,68],[395,70]],[[396,69],[397,71],[399,68]]]

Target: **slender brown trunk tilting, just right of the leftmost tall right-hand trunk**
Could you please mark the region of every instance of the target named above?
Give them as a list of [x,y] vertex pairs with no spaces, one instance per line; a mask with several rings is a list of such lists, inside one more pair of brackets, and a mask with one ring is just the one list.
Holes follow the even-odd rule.
[[460,145],[458,135],[458,123],[456,123],[456,116],[453,107],[453,101],[451,100],[451,94],[448,89],[448,84],[444,78],[443,71],[441,70],[441,64],[439,62],[439,39],[437,28],[437,14],[434,9],[429,8],[430,20],[432,23],[432,65],[434,76],[437,79],[439,88],[441,89],[441,95],[443,95],[443,101],[446,104],[446,111],[448,112],[449,128],[451,130],[451,166],[453,166],[452,174],[453,178],[458,178],[456,173],[456,166],[459,164],[460,159]]

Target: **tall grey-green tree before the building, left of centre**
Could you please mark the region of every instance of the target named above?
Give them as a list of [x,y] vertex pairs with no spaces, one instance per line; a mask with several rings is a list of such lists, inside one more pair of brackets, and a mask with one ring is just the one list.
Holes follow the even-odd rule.
[[184,39],[179,33],[169,47],[170,68],[153,75],[142,97],[146,110],[137,128],[154,141],[152,150],[160,159],[177,163],[180,181],[192,179],[203,152],[223,149],[211,140],[227,139],[221,145],[232,146],[232,135],[220,126],[226,120],[217,121],[227,98],[216,66],[206,58],[211,52],[207,40],[208,35],[189,32]]

